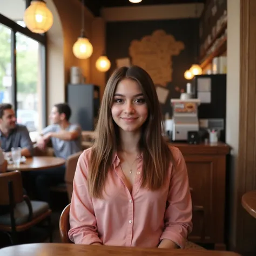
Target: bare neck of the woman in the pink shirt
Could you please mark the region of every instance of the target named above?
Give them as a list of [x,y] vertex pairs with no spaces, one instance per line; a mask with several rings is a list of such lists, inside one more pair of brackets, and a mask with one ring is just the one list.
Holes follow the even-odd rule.
[[129,154],[139,153],[140,131],[120,131],[120,150]]

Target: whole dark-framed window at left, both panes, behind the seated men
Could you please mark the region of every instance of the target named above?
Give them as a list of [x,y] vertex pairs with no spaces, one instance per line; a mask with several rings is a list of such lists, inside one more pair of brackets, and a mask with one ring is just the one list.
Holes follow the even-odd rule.
[[[19,2],[23,15],[29,1]],[[46,124],[46,39],[25,28],[21,15],[8,12],[7,5],[6,16],[0,14],[0,103],[11,103],[17,123],[38,131]]]

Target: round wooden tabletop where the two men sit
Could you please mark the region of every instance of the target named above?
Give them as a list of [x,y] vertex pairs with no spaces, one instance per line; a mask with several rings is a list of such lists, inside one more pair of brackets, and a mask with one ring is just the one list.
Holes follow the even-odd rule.
[[59,167],[64,165],[65,159],[59,157],[28,157],[26,163],[20,164],[19,167],[10,164],[7,166],[7,171],[35,171],[44,170],[52,167]]

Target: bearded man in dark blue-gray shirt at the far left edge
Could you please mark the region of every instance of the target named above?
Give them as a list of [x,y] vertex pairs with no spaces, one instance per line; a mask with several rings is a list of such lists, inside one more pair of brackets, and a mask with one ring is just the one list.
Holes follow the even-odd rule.
[[16,124],[15,111],[11,104],[0,104],[0,139],[5,153],[11,152],[12,147],[21,147],[22,156],[31,156],[29,131],[26,126]]

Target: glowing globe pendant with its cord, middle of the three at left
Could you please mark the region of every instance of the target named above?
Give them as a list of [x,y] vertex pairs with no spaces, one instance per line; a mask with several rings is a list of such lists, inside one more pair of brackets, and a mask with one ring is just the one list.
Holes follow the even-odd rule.
[[80,37],[78,37],[77,42],[73,45],[73,53],[78,59],[87,59],[91,57],[93,48],[84,31],[84,0],[82,5],[82,29]]

